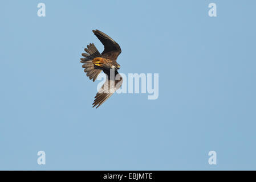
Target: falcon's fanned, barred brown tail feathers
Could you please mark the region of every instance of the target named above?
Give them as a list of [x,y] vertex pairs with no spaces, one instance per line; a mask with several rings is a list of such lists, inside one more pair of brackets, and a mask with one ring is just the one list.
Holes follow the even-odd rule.
[[86,75],[90,78],[90,80],[93,78],[92,81],[95,81],[97,76],[100,74],[101,69],[95,67],[95,58],[102,57],[101,53],[97,50],[97,48],[94,46],[94,44],[89,44],[87,48],[84,49],[87,53],[82,53],[83,58],[81,58],[81,63],[83,64],[84,72],[86,72]]

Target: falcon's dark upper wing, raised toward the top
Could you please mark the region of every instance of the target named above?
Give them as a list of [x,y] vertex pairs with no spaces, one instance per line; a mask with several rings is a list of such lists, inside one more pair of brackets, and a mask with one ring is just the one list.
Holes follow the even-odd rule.
[[99,30],[92,30],[100,42],[104,45],[104,51],[101,53],[107,59],[116,60],[121,53],[121,48],[115,40],[111,39],[107,34]]

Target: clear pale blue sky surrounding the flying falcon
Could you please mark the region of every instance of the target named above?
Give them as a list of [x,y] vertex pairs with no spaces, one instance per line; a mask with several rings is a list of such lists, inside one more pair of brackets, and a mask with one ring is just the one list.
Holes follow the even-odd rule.
[[[1,2],[0,169],[255,170],[255,7]],[[80,57],[88,43],[103,51],[94,29],[119,43],[121,73],[159,73],[157,100],[114,94],[92,108],[99,81],[85,76]]]

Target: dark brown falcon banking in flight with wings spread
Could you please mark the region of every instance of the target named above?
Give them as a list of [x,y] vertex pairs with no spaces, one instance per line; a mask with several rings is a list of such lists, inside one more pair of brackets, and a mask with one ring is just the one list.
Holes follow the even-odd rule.
[[120,88],[123,83],[123,78],[117,72],[120,65],[116,62],[117,57],[121,53],[121,48],[115,40],[111,39],[108,35],[99,30],[92,30],[100,42],[104,45],[104,51],[100,53],[94,44],[90,43],[84,49],[87,53],[82,53],[81,63],[86,76],[90,80],[95,81],[97,76],[103,71],[106,75],[106,80],[101,86],[99,92],[95,96],[92,107],[99,107],[105,102],[112,94]]

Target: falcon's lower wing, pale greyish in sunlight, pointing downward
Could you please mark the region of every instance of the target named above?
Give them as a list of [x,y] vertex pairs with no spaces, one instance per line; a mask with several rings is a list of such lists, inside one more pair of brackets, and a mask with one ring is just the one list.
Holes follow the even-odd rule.
[[[112,94],[120,88],[120,86],[123,84],[123,77],[115,71],[115,76],[113,78],[110,76],[109,71],[103,70],[104,73],[106,74],[107,78],[104,84],[101,86],[99,92],[97,92],[95,96],[94,103],[92,107],[99,107],[103,102],[105,102]],[[96,107],[96,108],[97,108]]]

